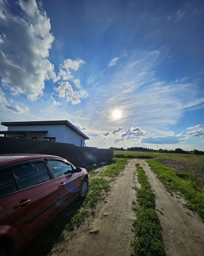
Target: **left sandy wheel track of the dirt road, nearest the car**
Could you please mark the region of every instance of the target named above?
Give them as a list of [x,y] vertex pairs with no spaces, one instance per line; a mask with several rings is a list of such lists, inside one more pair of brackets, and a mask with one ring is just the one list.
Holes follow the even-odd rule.
[[128,161],[125,170],[117,177],[107,203],[98,205],[95,218],[89,218],[77,230],[74,238],[66,244],[61,253],[55,255],[75,256],[127,256],[130,254],[131,231],[135,218],[131,209],[135,199],[134,186],[135,164],[137,160]]

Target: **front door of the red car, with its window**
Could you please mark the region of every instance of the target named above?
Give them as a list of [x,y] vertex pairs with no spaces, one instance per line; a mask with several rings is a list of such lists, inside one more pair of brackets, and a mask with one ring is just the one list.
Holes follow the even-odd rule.
[[69,162],[60,158],[46,158],[59,188],[59,211],[78,196],[80,176]]

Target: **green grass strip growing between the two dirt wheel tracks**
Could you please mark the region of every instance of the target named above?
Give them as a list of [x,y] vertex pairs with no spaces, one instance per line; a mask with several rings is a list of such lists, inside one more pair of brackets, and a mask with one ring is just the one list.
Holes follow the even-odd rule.
[[[164,256],[164,243],[161,235],[161,226],[158,222],[158,215],[154,210],[154,193],[150,187],[143,168],[137,166],[137,179],[141,188],[136,188],[139,208],[133,207],[136,213],[136,220],[133,222],[135,239],[132,242],[135,256]],[[135,205],[135,201],[133,201]]]

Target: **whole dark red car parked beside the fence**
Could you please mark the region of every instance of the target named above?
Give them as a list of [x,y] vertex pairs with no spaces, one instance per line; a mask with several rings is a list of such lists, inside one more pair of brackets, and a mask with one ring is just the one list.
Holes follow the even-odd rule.
[[88,191],[88,172],[58,156],[0,155],[0,255],[15,255]]

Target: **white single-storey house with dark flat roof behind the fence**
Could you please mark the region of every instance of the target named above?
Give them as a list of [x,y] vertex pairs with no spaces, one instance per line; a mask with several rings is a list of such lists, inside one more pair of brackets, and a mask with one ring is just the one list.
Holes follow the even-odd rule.
[[0,131],[4,137],[71,143],[75,146],[84,146],[84,141],[89,139],[67,120],[1,122],[1,125],[8,127],[7,131]]

